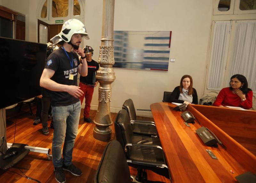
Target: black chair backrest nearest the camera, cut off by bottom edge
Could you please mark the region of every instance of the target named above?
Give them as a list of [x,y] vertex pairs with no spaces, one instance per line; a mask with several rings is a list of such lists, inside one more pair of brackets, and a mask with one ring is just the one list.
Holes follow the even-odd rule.
[[94,183],[131,182],[131,175],[124,150],[116,140],[109,142],[102,154]]

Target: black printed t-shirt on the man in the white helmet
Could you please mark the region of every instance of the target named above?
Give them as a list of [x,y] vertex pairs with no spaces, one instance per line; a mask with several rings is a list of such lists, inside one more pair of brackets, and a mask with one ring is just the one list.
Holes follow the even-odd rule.
[[[77,74],[78,74],[78,65],[80,64],[79,58],[76,54],[67,52],[62,48],[58,48],[51,55],[49,55],[47,59],[47,63],[45,65],[46,69],[54,70],[55,73],[52,76],[52,80],[59,84],[66,85],[75,85],[77,86]],[[71,67],[71,59],[73,55],[73,68]],[[73,74],[73,80],[69,79],[69,74]],[[68,106],[71,104],[75,104],[79,101],[79,98],[76,99],[68,92],[64,91],[49,91],[51,96],[51,105],[52,106]]]

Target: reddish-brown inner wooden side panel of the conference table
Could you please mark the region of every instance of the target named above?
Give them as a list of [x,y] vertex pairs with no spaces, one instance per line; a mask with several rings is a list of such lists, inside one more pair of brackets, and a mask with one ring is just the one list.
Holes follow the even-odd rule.
[[256,156],[256,111],[203,105],[191,107]]

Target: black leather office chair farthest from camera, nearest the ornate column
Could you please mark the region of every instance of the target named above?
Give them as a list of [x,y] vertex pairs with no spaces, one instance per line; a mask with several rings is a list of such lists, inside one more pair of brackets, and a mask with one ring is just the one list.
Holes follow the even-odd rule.
[[136,111],[132,99],[125,100],[122,108],[129,114],[134,134],[157,137],[157,130],[154,121],[136,120]]

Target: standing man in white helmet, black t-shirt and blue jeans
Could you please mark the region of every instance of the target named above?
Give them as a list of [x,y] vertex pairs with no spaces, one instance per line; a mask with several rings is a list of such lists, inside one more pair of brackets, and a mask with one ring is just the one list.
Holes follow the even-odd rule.
[[[62,46],[48,57],[40,79],[40,86],[50,90],[54,121],[52,162],[55,179],[60,183],[66,181],[63,170],[76,176],[82,175],[71,161],[81,112],[79,97],[83,95],[77,86],[77,74],[87,76],[88,72],[85,54],[79,48],[82,37],[89,39],[84,24],[76,19],[66,21],[61,32],[51,39],[53,44]],[[77,54],[83,64],[80,64]]]

